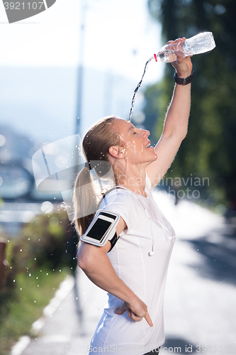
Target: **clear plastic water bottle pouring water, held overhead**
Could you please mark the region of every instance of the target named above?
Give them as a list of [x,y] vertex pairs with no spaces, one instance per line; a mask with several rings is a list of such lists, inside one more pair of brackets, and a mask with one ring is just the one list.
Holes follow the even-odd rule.
[[188,57],[189,55],[208,52],[209,50],[213,50],[213,48],[215,48],[213,33],[203,32],[187,40],[174,43],[174,45],[164,45],[157,54],[154,54],[154,58],[156,61],[159,58],[162,62],[174,62],[177,59],[176,53],[178,52],[181,53],[183,57]]

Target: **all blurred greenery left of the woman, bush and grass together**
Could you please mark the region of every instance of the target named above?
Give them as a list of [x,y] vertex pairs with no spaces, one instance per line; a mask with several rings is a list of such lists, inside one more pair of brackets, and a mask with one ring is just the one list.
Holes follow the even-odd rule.
[[9,275],[0,293],[0,355],[30,334],[66,273],[75,270],[77,242],[65,211],[36,216],[9,240]]

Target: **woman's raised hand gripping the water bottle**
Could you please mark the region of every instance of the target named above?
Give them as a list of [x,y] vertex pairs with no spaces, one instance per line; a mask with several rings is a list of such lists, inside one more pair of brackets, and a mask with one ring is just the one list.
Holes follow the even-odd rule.
[[182,48],[185,40],[186,38],[183,37],[183,38],[178,38],[177,40],[169,40],[169,42],[167,42],[167,45],[169,45],[170,50],[172,49],[173,44],[176,45],[176,43],[179,43],[179,45],[177,45],[177,48],[179,50],[176,52],[176,55],[173,56],[173,62],[172,62],[172,65],[176,70],[178,77],[189,77],[189,75],[191,75],[192,68],[193,68],[191,57],[183,58],[182,55]]

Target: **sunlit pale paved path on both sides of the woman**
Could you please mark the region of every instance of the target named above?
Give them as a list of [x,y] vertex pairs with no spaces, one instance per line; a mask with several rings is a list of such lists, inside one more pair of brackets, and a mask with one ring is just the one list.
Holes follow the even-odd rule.
[[[174,207],[155,195],[176,230],[165,293],[166,342],[161,354],[236,354],[236,236],[223,219],[191,202]],[[78,270],[79,271],[79,270]],[[37,337],[14,355],[86,355],[106,303],[106,292],[77,273],[82,315],[74,289]],[[13,354],[12,354],[13,355]]]

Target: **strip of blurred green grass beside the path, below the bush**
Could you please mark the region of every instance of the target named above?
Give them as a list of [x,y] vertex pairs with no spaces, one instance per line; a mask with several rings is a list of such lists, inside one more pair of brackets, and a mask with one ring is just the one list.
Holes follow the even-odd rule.
[[0,355],[9,355],[11,346],[22,335],[30,336],[31,325],[43,314],[43,308],[68,269],[49,271],[40,268],[32,274],[18,274],[11,293],[0,294]]

